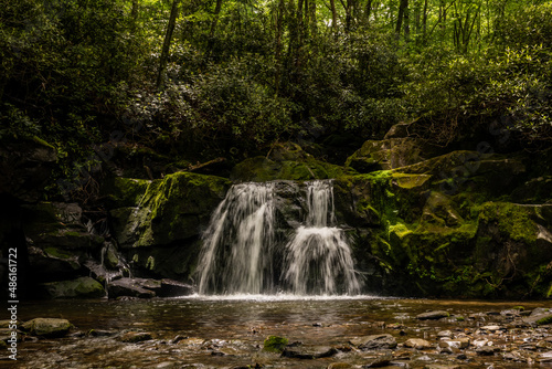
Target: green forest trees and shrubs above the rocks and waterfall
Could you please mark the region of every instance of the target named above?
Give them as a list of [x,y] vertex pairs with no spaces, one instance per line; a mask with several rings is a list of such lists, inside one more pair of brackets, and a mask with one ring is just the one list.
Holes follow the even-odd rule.
[[241,160],[413,120],[543,145],[550,34],[538,0],[1,0],[0,139],[53,145],[57,178],[108,141]]

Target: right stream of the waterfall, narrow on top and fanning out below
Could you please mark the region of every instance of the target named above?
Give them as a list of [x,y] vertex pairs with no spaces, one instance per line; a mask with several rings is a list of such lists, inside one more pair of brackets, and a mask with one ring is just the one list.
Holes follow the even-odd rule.
[[333,186],[314,181],[307,189],[307,225],[299,226],[285,250],[284,281],[294,294],[358,294],[351,250],[335,225]]

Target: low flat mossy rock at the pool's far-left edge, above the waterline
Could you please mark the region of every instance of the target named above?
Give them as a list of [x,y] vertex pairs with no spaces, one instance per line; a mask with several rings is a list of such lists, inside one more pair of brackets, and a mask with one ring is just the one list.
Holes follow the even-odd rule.
[[40,289],[49,298],[99,298],[105,296],[104,286],[87,276],[73,281],[43,283],[40,285]]

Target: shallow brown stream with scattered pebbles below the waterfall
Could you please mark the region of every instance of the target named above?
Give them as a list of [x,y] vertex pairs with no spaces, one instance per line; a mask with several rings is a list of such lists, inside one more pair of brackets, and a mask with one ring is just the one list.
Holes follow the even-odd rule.
[[[551,305],[550,301],[286,295],[26,302],[20,305],[20,320],[65,318],[74,328],[64,338],[25,339],[19,344],[18,361],[2,360],[0,366],[552,368],[546,360],[546,352],[552,352],[552,328],[523,323],[531,310]],[[448,316],[417,318],[431,310],[444,310]],[[129,333],[149,336],[137,342],[123,341]],[[390,335],[397,345],[372,349],[354,345],[357,337],[373,335]],[[284,355],[263,350],[268,336],[288,339]],[[469,341],[468,347],[444,344],[460,337]],[[429,346],[406,347],[413,338]]]

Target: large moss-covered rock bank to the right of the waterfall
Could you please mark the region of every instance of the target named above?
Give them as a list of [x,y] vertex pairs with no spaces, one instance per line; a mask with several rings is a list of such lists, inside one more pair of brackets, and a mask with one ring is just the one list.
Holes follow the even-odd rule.
[[[543,196],[544,177],[528,180],[541,176],[528,155],[488,154],[485,147],[423,160],[417,155],[423,151],[411,148],[402,155],[412,152],[412,158],[397,159],[392,139],[403,138],[367,141],[348,164],[362,155],[368,162],[368,154],[379,152],[383,159],[371,161],[379,166],[357,167],[369,172],[335,182],[339,218],[354,228],[350,233],[360,267],[371,275],[369,288],[408,295],[552,296],[550,193]],[[375,170],[381,168],[388,169]],[[523,199],[526,203],[518,202]]]

